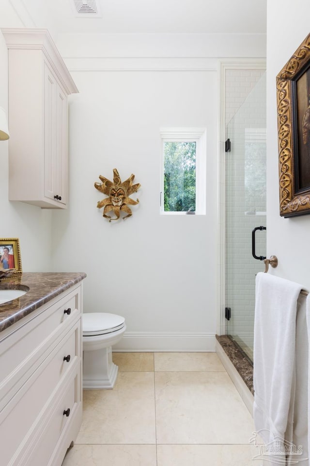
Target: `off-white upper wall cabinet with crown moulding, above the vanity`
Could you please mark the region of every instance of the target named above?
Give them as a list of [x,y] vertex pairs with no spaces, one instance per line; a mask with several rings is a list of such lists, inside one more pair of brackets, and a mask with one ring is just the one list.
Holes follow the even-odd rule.
[[47,30],[1,31],[8,47],[9,200],[66,208],[67,99],[78,89]]

